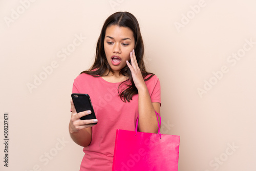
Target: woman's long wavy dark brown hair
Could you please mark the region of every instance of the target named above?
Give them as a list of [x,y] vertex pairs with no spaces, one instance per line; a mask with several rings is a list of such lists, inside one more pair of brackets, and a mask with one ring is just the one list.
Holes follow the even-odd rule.
[[[143,45],[143,40],[140,32],[139,23],[135,18],[135,16],[129,12],[116,12],[105,20],[105,23],[101,29],[100,36],[98,38],[94,64],[89,70],[83,71],[80,74],[86,73],[95,77],[100,77],[100,76],[106,76],[110,72],[113,73],[113,70],[111,69],[108,63],[108,60],[106,59],[105,50],[104,50],[104,38],[105,38],[106,28],[113,25],[130,28],[133,31],[133,35],[135,38],[134,51],[136,54],[138,66],[140,68],[144,81],[147,81],[154,74],[146,72],[146,68],[143,61],[144,45]],[[104,75],[105,71],[108,71],[106,75]],[[135,84],[133,81],[131,70],[129,69],[128,66],[125,66],[124,68],[121,69],[119,74],[129,77],[129,79],[119,84],[118,94],[122,101],[126,102],[127,100],[128,102],[130,102],[130,100],[132,100],[133,95],[138,94],[138,90],[135,87]],[[150,76],[145,79],[147,75],[150,75]],[[126,87],[120,90],[121,84],[125,84]]]

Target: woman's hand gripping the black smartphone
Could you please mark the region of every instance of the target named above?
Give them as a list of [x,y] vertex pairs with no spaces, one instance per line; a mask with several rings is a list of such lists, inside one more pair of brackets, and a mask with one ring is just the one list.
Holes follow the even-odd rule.
[[81,120],[80,118],[82,116],[89,115],[92,112],[91,111],[83,111],[83,112],[76,113],[76,109],[75,109],[73,100],[71,99],[70,102],[71,102],[71,111],[72,112],[71,112],[71,119],[70,119],[70,123],[69,123],[69,131],[71,134],[76,133],[76,132],[78,132],[82,129],[85,129],[87,127],[92,127],[95,125],[92,123],[98,122],[97,119]]

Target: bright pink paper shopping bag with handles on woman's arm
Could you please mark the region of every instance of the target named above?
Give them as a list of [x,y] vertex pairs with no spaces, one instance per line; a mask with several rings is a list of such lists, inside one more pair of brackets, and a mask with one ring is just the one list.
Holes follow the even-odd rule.
[[117,130],[112,171],[177,171],[180,136],[161,134],[160,124],[158,134]]

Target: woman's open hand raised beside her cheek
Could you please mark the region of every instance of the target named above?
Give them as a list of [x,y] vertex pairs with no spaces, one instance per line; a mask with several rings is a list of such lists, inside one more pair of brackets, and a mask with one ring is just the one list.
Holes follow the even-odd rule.
[[145,87],[146,84],[141,74],[140,68],[138,66],[134,50],[130,53],[130,57],[131,57],[131,64],[127,60],[126,60],[126,63],[132,72],[134,84],[136,88],[139,90],[140,88]]

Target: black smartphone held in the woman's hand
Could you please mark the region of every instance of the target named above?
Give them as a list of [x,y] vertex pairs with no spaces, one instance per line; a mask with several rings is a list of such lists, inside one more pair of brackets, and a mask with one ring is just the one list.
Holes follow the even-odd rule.
[[[86,120],[86,119],[96,119],[94,110],[93,110],[93,105],[90,99],[90,96],[88,94],[78,94],[78,93],[73,93],[71,94],[72,100],[75,105],[76,112],[83,112],[83,111],[92,111],[91,114],[82,116],[80,119],[81,120]],[[92,123],[92,124],[97,124]]]

